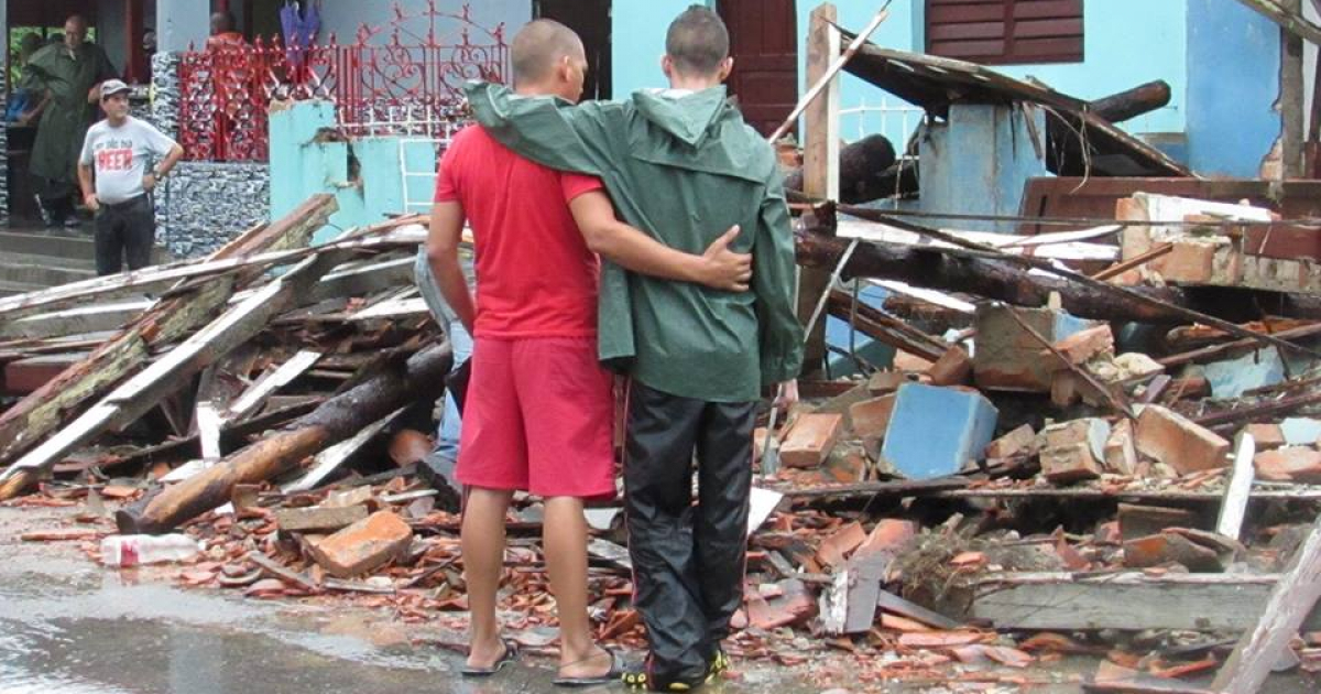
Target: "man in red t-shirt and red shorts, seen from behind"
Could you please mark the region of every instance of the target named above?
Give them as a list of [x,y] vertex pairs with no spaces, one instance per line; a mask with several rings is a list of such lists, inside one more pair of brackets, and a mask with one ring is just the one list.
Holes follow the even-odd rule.
[[[538,20],[511,46],[522,95],[583,94],[577,36]],[[592,640],[583,500],[613,497],[612,377],[597,362],[597,254],[647,275],[745,291],[750,258],[728,250],[733,227],[697,256],[614,217],[600,180],[524,160],[481,127],[454,136],[440,164],[428,258],[441,293],[474,337],[456,476],[472,613],[464,674],[511,662],[495,617],[505,513],[515,489],[546,500],[546,563],[560,620],[556,683],[618,679],[622,664]],[[477,301],[458,266],[465,219],[477,247]]]

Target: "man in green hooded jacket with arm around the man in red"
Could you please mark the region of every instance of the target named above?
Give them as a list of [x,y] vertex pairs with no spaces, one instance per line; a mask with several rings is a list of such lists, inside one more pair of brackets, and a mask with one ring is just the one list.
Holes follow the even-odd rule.
[[[720,86],[732,61],[720,17],[694,5],[666,34],[670,90],[577,107],[468,87],[477,120],[544,165],[600,176],[618,213],[667,246],[753,255],[752,291],[728,293],[602,263],[600,356],[631,377],[624,465],[634,605],[650,654],[626,683],[682,691],[727,665],[742,603],[752,430],[764,387],[797,399],[803,332],[794,245],[771,147]],[[691,504],[694,453],[699,498]]]

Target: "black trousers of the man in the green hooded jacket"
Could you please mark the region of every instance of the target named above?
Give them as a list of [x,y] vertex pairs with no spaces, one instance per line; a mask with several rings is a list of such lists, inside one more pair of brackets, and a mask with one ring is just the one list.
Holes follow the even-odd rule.
[[[658,682],[700,682],[742,604],[756,406],[633,382],[624,460],[634,607]],[[692,504],[692,471],[697,504]]]

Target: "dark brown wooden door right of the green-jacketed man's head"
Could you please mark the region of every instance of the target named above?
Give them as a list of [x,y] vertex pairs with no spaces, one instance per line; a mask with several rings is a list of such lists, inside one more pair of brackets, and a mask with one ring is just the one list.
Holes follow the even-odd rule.
[[744,118],[770,135],[798,103],[798,21],[794,0],[720,0],[734,58],[729,91]]

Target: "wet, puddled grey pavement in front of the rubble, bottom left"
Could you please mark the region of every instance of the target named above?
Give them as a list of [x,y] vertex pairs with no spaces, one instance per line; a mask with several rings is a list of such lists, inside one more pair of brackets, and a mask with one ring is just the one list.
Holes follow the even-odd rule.
[[[432,645],[461,635],[424,633],[382,612],[188,590],[153,567],[102,568],[77,542],[17,541],[67,516],[0,508],[0,694],[563,691],[550,685],[544,658],[487,681],[462,679],[458,653]],[[711,687],[768,689],[816,690],[781,670]]]

